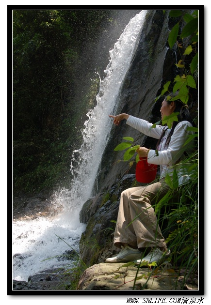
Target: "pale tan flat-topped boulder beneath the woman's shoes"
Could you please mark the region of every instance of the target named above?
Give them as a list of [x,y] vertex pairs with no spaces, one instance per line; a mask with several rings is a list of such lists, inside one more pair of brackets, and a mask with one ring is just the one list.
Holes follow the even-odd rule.
[[124,263],[100,263],[84,271],[77,290],[180,290],[178,275],[171,266],[160,266],[150,278],[149,272],[149,268]]

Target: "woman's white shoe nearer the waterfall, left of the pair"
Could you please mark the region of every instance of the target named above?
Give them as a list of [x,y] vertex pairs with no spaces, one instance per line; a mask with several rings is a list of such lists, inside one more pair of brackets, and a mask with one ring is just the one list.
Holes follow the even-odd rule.
[[106,259],[105,262],[128,262],[141,257],[142,252],[133,249],[129,245],[121,246],[121,251],[114,257]]

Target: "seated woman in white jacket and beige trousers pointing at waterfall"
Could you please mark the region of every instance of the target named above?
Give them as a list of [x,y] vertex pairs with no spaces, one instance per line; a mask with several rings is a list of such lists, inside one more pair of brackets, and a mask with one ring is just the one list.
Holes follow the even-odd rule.
[[110,115],[115,125],[119,125],[125,119],[127,124],[146,136],[159,139],[157,150],[140,147],[137,153],[139,157],[147,157],[148,163],[160,165],[161,174],[159,182],[132,187],[121,193],[114,231],[114,245],[121,250],[116,256],[106,259],[108,263],[135,261],[136,264],[140,264],[145,261],[147,264],[153,261],[161,262],[170,255],[153,205],[169,190],[169,185],[165,183],[166,173],[172,177],[176,168],[179,185],[187,182],[185,168],[179,161],[185,158],[184,152],[190,154],[193,150],[192,141],[185,146],[184,143],[193,134],[193,131],[188,131],[187,128],[194,124],[188,107],[179,100],[170,101],[166,96],[162,101],[160,112],[162,119],[173,112],[179,112],[178,122],[173,122],[170,129],[166,125],[150,128],[152,123],[126,113]]

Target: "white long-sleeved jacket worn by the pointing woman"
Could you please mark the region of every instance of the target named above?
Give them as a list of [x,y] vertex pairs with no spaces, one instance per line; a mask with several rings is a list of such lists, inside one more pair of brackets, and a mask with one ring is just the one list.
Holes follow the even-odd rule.
[[167,126],[156,125],[155,128],[151,128],[153,125],[152,123],[133,116],[128,118],[127,124],[142,132],[146,136],[154,137],[156,139],[161,137],[164,129],[165,135],[162,138],[162,143],[157,149],[157,153],[155,150],[150,149],[148,152],[147,161],[151,164],[160,165],[160,179],[165,177],[166,173],[172,176],[174,168],[176,168],[179,178],[179,185],[189,180],[190,177],[187,173],[187,167],[182,166],[182,163],[179,161],[185,158],[184,152],[190,154],[193,151],[193,140],[184,146],[184,143],[188,137],[194,134],[193,131],[187,131],[187,127],[192,127],[190,122],[182,121],[178,123],[178,125],[175,127],[173,135],[171,136],[171,140],[166,147],[166,138],[171,131],[171,129],[169,129]]

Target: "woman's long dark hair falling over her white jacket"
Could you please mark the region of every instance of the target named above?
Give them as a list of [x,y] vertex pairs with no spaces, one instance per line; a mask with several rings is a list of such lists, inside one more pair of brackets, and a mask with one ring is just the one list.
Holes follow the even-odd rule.
[[[178,93],[170,93],[168,95],[165,96],[164,100],[170,105],[171,104],[171,100],[167,100],[167,96],[171,96],[171,98],[175,97]],[[184,103],[182,103],[181,101],[179,100],[176,100],[174,101],[175,102],[175,110],[174,112],[179,112],[179,115],[178,115],[178,122],[174,121],[173,124],[172,124],[172,128],[171,128],[171,131],[166,139],[166,142],[165,142],[165,145],[168,145],[170,140],[171,140],[171,136],[173,135],[174,133],[174,130],[175,130],[175,127],[177,126],[177,124],[179,122],[182,122],[182,121],[188,121],[192,124],[192,126],[195,126],[195,123],[193,122],[192,118],[191,118],[191,115],[190,115],[190,112],[189,112],[189,109],[188,109],[188,106],[185,105]],[[160,139],[158,140],[158,143],[156,144],[156,148],[158,147],[158,145],[161,143],[161,139],[162,137],[164,137],[165,135],[165,129],[163,130],[162,132],[162,135],[160,137]]]

